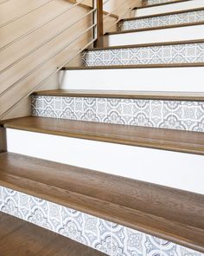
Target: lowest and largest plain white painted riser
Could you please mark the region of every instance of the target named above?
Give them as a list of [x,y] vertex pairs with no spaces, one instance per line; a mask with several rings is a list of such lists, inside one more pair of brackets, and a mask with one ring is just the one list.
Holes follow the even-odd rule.
[[7,129],[7,143],[9,152],[204,194],[202,155],[15,129]]

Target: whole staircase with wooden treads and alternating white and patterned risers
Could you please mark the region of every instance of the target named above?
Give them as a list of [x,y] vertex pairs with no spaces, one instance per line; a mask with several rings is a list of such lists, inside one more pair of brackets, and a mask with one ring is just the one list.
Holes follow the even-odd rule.
[[204,1],[143,3],[1,121],[0,211],[85,255],[203,256]]

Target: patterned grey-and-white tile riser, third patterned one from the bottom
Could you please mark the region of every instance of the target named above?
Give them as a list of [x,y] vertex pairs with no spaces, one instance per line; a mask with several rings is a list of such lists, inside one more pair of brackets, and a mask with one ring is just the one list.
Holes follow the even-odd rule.
[[204,62],[204,43],[85,51],[84,66]]

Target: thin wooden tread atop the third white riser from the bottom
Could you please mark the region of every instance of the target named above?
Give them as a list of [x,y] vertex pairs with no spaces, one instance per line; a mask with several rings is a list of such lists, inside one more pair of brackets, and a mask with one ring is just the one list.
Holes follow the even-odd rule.
[[177,23],[174,25],[165,25],[165,26],[156,26],[156,27],[150,27],[150,28],[142,28],[142,29],[135,29],[135,30],[122,30],[122,31],[113,31],[113,32],[107,32],[105,33],[105,36],[111,36],[111,35],[120,35],[120,34],[126,34],[126,33],[136,33],[136,32],[143,32],[143,31],[150,31],[150,30],[166,30],[166,29],[175,29],[175,28],[182,28],[182,27],[190,27],[190,26],[199,26],[203,25],[204,22],[196,22],[196,23]]

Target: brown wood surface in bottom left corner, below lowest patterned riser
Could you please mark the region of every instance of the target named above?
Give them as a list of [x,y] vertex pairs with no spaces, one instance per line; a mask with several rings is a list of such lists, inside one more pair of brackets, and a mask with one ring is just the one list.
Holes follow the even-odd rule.
[[106,255],[60,234],[1,212],[0,248],[3,256]]

